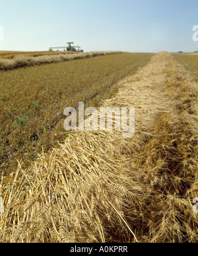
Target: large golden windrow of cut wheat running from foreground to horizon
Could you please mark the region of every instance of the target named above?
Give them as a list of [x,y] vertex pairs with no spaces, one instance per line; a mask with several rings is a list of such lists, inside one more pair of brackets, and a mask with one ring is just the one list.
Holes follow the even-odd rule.
[[3,181],[0,241],[197,242],[197,84],[167,52],[104,102],[135,107],[135,136],[72,134]]

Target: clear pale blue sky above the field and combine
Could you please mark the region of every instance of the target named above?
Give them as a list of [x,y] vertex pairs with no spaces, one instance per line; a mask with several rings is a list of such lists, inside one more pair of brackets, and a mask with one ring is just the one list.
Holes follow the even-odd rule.
[[0,0],[0,50],[192,52],[197,0]]

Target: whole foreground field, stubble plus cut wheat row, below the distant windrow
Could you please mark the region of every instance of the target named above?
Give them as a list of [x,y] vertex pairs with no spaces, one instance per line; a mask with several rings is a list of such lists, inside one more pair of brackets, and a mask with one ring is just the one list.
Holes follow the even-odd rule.
[[[0,241],[197,243],[196,65],[123,53],[0,71]],[[134,136],[65,132],[80,101],[135,107]]]

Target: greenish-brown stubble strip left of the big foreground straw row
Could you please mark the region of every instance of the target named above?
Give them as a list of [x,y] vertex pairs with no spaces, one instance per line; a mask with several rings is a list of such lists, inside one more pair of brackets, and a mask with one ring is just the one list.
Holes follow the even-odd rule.
[[152,54],[111,54],[0,71],[1,172],[29,165],[65,139],[63,110],[83,101],[98,107],[116,83],[148,64]]

